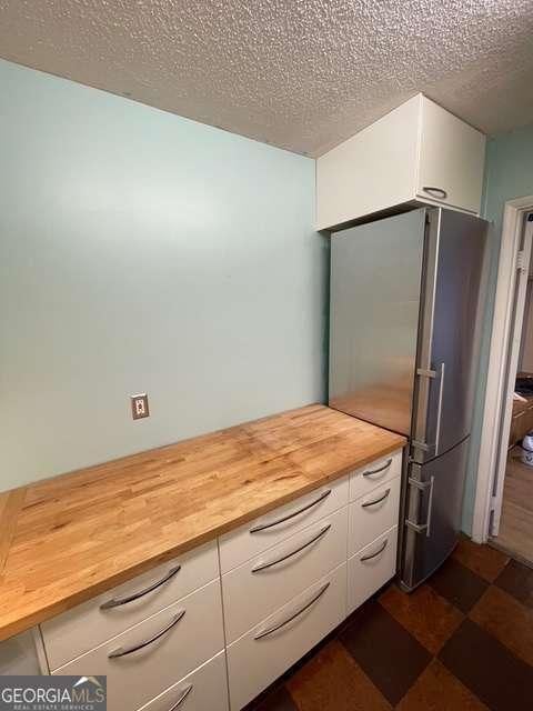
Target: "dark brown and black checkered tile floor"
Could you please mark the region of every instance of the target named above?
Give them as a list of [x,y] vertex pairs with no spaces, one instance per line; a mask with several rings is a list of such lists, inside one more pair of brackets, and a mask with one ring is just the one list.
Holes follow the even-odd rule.
[[533,570],[461,540],[412,594],[369,600],[254,711],[533,709]]

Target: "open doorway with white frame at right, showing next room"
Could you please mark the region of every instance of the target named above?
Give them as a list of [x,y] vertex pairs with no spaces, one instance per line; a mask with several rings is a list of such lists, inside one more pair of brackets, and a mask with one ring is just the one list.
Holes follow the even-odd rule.
[[[506,203],[472,537],[533,567],[533,197]],[[530,340],[531,339],[531,340]],[[533,447],[533,444],[532,444]]]

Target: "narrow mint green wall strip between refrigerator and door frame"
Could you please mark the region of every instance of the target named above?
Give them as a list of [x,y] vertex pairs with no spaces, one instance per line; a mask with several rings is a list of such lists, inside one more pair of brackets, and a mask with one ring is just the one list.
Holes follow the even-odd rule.
[[505,202],[514,198],[533,194],[533,126],[510,133],[494,136],[487,141],[485,184],[483,194],[483,214],[494,221],[491,241],[491,273],[489,278],[489,298],[485,313],[485,329],[482,343],[477,401],[472,428],[472,447],[463,507],[463,530],[472,530],[474,510],[475,479],[480,453],[483,405],[489,368],[489,351],[496,289],[497,258],[502,219]]

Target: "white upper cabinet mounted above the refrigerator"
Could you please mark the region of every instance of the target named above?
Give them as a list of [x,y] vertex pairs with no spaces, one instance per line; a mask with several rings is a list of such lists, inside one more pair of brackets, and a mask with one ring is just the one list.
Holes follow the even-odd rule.
[[485,137],[418,94],[316,161],[319,230],[418,200],[479,213]]

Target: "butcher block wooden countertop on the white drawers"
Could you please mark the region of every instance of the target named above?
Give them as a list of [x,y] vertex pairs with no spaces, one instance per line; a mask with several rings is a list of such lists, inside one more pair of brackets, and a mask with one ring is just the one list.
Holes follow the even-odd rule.
[[0,494],[0,640],[405,444],[313,404]]

